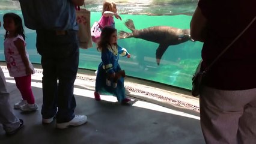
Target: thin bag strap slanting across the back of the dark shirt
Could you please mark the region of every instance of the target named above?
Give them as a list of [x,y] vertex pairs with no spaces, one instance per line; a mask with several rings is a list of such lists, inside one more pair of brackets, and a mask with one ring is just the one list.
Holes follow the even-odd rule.
[[237,37],[230,44],[228,44],[228,46],[217,56],[217,58],[215,58],[215,60],[203,71],[203,74],[206,74],[206,72],[209,71],[210,67],[212,67],[212,65],[215,64],[215,62],[219,59],[219,57],[221,57],[228,50],[228,48],[230,48],[230,46],[232,46],[232,44],[234,44],[234,42],[236,42],[237,39],[240,38],[243,33],[245,33],[245,31],[252,25],[255,19],[256,19],[256,16],[254,17],[254,19],[252,19],[249,25],[246,26],[246,28],[243,29],[243,31],[239,35],[237,35]]

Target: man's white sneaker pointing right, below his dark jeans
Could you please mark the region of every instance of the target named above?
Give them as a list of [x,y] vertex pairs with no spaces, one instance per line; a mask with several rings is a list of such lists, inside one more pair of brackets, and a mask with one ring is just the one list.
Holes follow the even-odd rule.
[[79,126],[87,122],[87,116],[86,115],[75,115],[75,118],[73,118],[69,122],[63,122],[63,123],[56,123],[56,128],[68,128],[69,126]]

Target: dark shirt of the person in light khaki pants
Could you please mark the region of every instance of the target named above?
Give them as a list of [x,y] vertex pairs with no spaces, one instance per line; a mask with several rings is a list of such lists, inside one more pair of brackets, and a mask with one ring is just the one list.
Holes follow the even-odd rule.
[[[207,19],[203,68],[233,41],[256,16],[255,0],[200,0]],[[224,90],[256,88],[256,22],[207,72],[204,85]]]

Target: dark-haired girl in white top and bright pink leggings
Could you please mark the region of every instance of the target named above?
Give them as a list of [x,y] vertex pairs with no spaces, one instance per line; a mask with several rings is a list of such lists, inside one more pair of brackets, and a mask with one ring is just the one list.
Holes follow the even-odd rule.
[[4,55],[10,76],[14,77],[22,99],[14,104],[14,109],[24,112],[37,110],[37,104],[31,89],[31,74],[34,68],[26,52],[25,34],[22,19],[14,13],[4,14]]

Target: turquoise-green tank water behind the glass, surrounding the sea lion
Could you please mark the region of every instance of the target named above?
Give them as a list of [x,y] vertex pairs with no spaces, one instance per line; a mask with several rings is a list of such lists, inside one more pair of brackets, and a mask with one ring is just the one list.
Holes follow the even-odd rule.
[[[10,12],[10,10],[0,10],[1,22],[2,15],[7,12]],[[22,16],[19,10],[13,10],[11,12]],[[91,12],[91,25],[99,20],[100,15],[100,12]],[[122,30],[126,32],[130,32],[124,25],[124,22],[127,19],[133,20],[136,29],[163,25],[184,29],[189,28],[189,22],[192,18],[191,16],[182,14],[175,16],[121,14],[121,17],[123,19],[122,21],[115,19],[115,27],[118,31]],[[35,31],[25,29],[25,32],[26,48],[28,49],[29,58],[32,62],[40,63],[40,55],[38,55],[35,48]],[[4,37],[4,33],[5,31],[1,27],[0,37]],[[0,43],[3,44],[3,38],[0,38]],[[169,46],[163,54],[159,66],[156,64],[155,58],[156,49],[159,44],[137,38],[118,40],[118,44],[125,47],[132,56],[130,59],[120,58],[121,68],[126,70],[128,76],[191,89],[191,78],[201,58],[202,43],[187,41],[186,43],[178,44],[176,46]],[[4,61],[2,47],[0,50],[0,60]],[[87,50],[81,49],[79,62],[80,68],[96,70],[100,61],[100,53],[97,52],[95,46]]]

